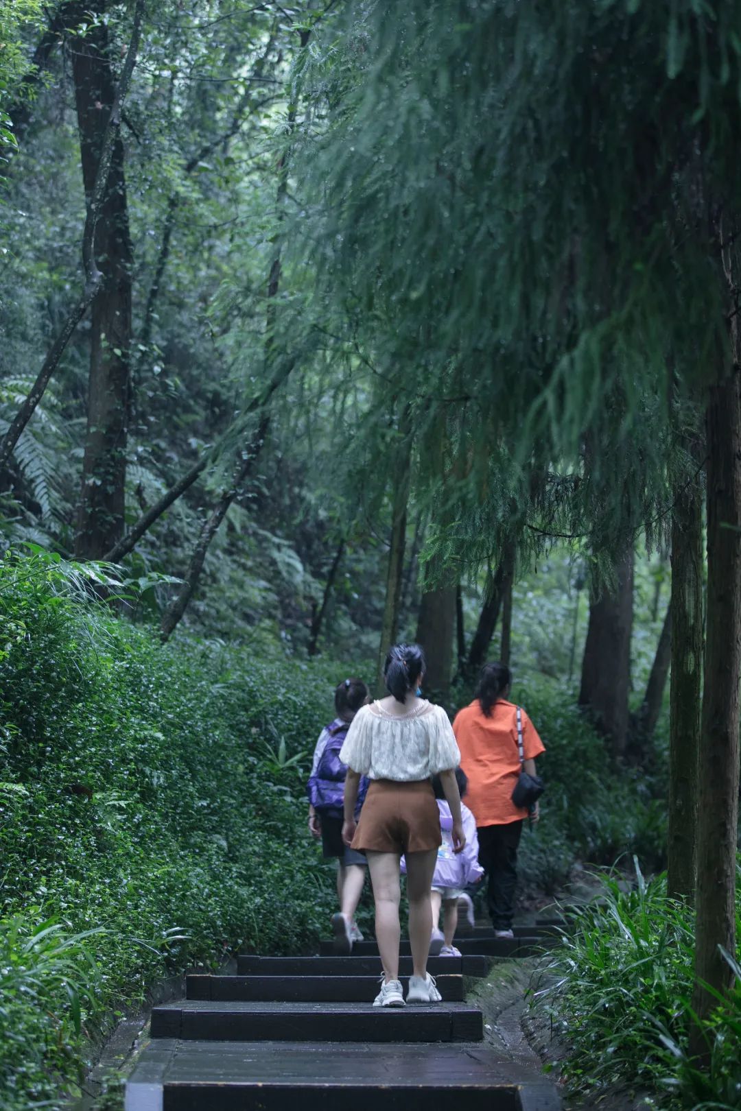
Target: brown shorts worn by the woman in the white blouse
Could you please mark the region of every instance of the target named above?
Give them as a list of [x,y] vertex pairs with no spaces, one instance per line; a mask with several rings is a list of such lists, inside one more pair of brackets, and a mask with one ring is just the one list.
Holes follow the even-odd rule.
[[442,843],[440,811],[429,779],[373,779],[352,848],[359,852],[425,852]]

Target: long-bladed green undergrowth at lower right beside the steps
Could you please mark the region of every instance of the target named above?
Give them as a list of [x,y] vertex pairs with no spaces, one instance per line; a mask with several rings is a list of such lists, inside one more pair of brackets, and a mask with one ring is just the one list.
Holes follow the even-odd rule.
[[[574,1094],[633,1085],[657,1107],[741,1108],[741,953],[725,954],[734,989],[704,1024],[711,1064],[688,1053],[694,962],[693,913],[667,898],[665,875],[625,890],[601,877],[600,898],[573,908],[573,929],[539,974],[533,1005],[565,1040],[561,1072]],[[741,935],[741,884],[737,902]]]

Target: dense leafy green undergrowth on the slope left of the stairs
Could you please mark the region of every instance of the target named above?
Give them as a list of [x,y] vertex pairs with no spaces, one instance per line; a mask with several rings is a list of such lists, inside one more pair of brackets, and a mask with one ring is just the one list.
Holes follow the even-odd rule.
[[3,1111],[57,1105],[164,974],[300,951],[330,910],[302,795],[333,673],[162,648],[79,575],[0,562]]

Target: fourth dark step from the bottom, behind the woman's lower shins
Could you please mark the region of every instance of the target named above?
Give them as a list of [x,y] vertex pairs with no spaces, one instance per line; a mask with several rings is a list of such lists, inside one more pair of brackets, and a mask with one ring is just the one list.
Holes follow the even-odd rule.
[[[472,957],[431,957],[427,964],[432,975],[473,975],[489,974],[491,958]],[[240,975],[374,975],[381,974],[381,961],[377,955],[370,957],[253,957],[243,954],[237,958],[237,971]],[[412,959],[402,957],[399,961],[399,974],[411,975]]]

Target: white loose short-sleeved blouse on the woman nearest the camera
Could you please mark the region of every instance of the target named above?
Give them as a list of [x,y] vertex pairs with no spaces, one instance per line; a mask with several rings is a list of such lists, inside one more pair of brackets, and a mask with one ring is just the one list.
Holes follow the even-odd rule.
[[408,713],[389,713],[378,702],[358,711],[340,760],[370,779],[414,782],[458,768],[461,754],[442,707],[420,699]]

